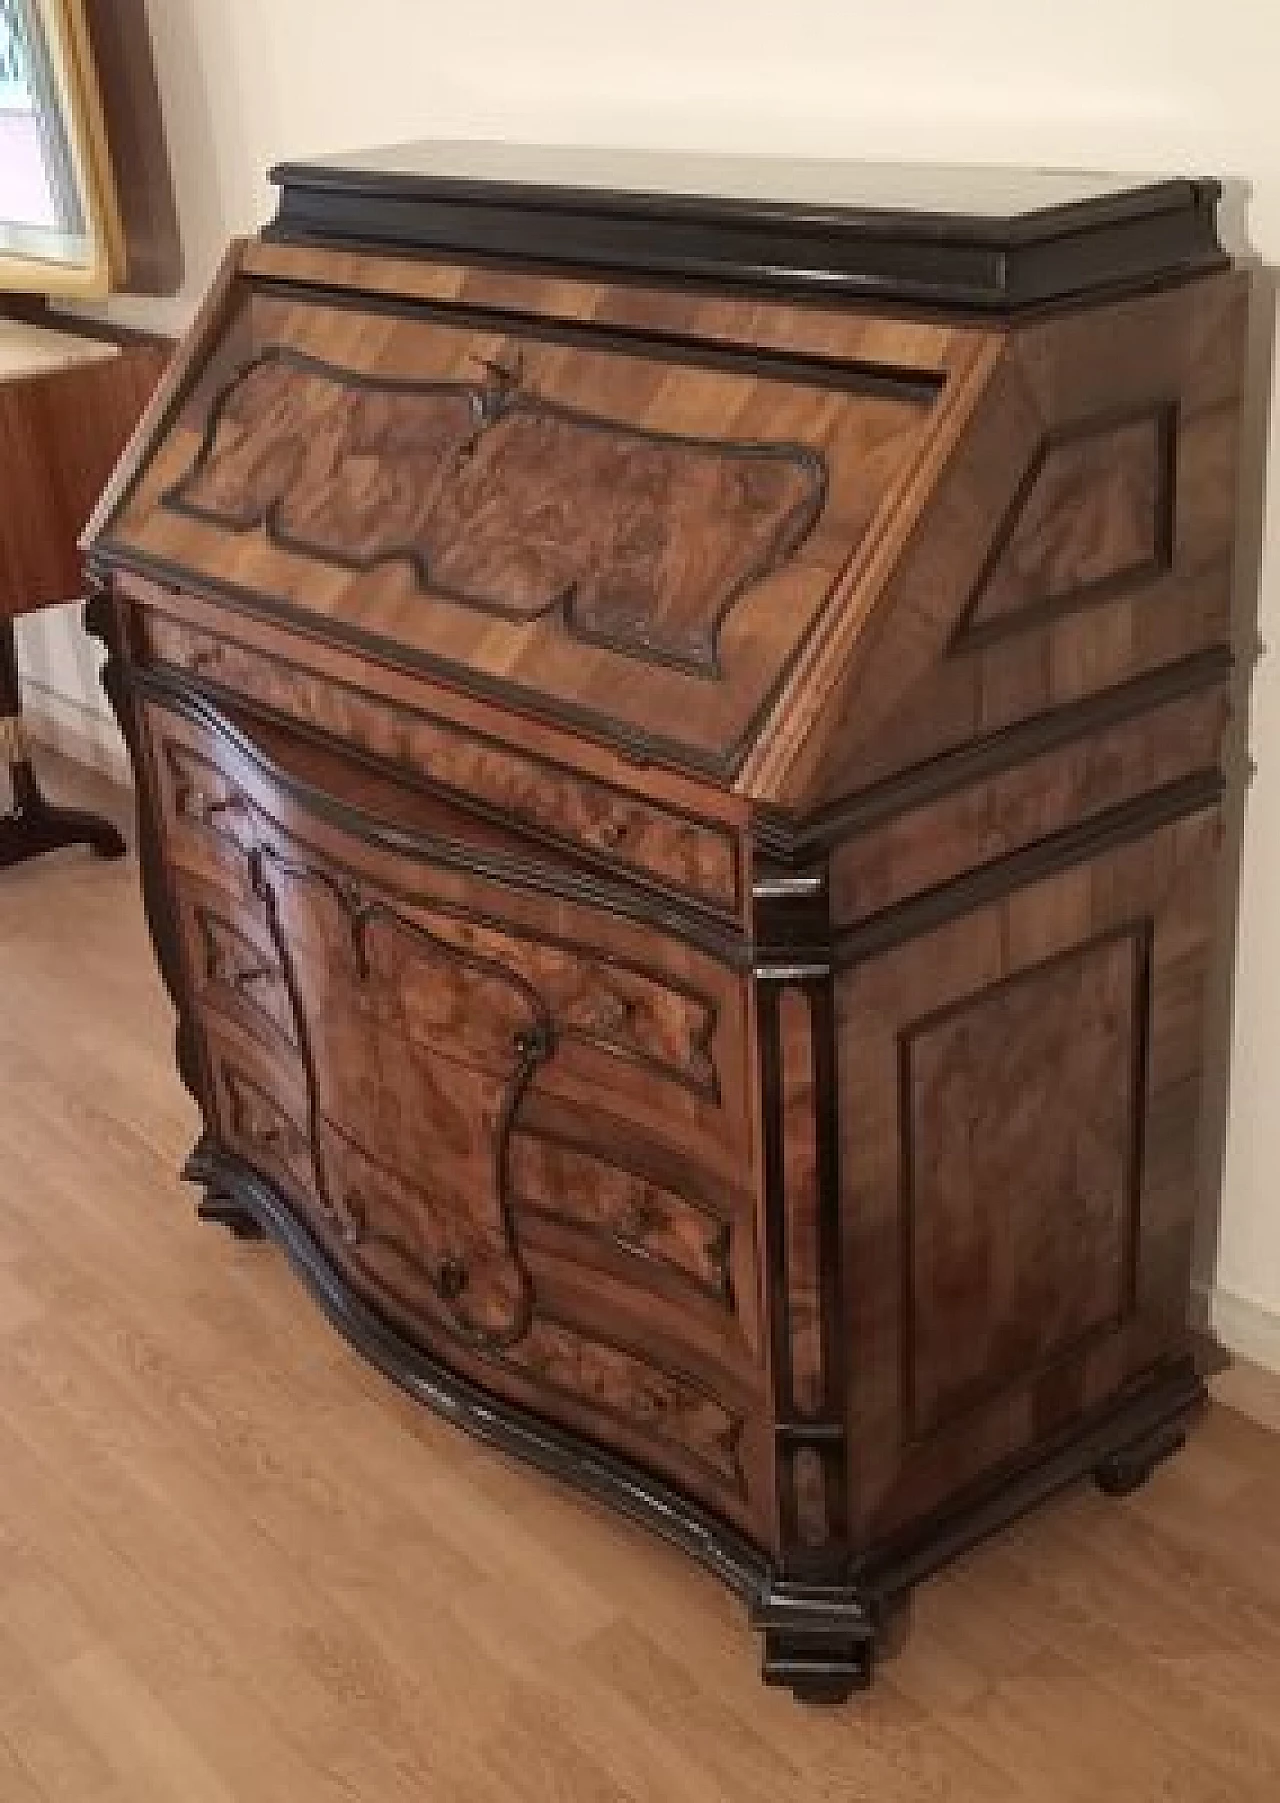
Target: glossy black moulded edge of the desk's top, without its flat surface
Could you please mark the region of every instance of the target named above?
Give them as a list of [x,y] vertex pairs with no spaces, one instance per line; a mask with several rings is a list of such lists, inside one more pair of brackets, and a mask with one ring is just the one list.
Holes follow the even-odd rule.
[[265,238],[462,252],[824,299],[1013,316],[1226,261],[1221,188],[1168,180],[1013,220],[283,164]]

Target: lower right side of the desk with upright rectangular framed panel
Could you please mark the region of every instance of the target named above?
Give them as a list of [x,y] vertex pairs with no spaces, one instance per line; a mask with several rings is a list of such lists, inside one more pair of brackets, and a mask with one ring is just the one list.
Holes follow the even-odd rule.
[[1181,1341],[1217,838],[1192,815],[838,977],[858,1536],[919,1520]]

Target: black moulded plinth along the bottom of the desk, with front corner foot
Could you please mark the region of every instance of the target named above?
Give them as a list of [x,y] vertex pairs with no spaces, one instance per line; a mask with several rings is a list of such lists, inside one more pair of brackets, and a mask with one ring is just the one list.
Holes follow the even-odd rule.
[[204,1190],[204,1221],[240,1239],[276,1240],[334,1325],[416,1401],[651,1527],[714,1572],[763,1634],[764,1682],[800,1702],[846,1702],[865,1689],[891,1612],[916,1583],[1067,1484],[1093,1475],[1111,1495],[1134,1489],[1181,1446],[1204,1403],[1192,1361],[1174,1359],[901,1538],[860,1558],[849,1549],[824,1570],[788,1570],[653,1473],[440,1365],[364,1302],[278,1190],[207,1136],[184,1176]]

